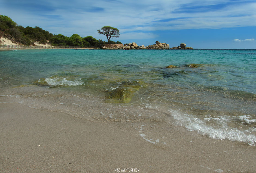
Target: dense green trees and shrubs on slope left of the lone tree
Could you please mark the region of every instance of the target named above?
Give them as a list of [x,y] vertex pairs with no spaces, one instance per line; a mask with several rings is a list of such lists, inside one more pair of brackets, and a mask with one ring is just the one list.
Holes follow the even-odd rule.
[[71,37],[62,34],[53,35],[49,31],[43,30],[38,26],[17,26],[11,18],[3,15],[0,15],[0,33],[11,35],[17,42],[20,42],[23,45],[34,45],[32,41],[38,41],[41,44],[46,44],[49,41],[53,46],[78,46],[81,48],[101,47],[104,44],[122,44],[121,42],[114,42],[111,40],[109,42],[102,41],[101,39],[97,40],[92,36],[82,38],[78,34],[73,34]]

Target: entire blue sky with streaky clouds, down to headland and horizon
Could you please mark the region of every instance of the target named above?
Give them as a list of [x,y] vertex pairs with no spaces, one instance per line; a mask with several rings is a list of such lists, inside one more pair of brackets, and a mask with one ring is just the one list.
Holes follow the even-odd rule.
[[0,0],[0,13],[65,36],[106,41],[97,29],[112,26],[123,44],[256,49],[255,0]]

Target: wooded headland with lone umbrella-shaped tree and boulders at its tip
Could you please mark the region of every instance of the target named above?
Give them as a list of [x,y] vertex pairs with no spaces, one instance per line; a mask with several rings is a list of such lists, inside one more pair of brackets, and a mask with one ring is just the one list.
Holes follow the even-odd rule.
[[[100,30],[97,30],[99,34],[107,37],[107,42],[102,39],[97,40],[92,36],[81,37],[78,34],[73,34],[71,37],[64,36],[62,34],[53,35],[47,30],[44,30],[38,26],[35,27],[23,27],[17,26],[10,17],[0,15],[0,38],[4,37],[17,45],[40,46],[47,44],[46,46],[60,46],[60,47],[79,47],[79,48],[101,48],[101,49],[193,49],[186,47],[185,43],[181,43],[177,47],[169,47],[169,44],[156,41],[153,45],[137,45],[135,42],[122,44],[117,41],[110,40],[113,37],[119,38],[119,30],[111,26],[104,26]],[[0,44],[3,42],[0,40]],[[50,45],[49,45],[50,44]],[[192,66],[191,66],[192,67]],[[194,66],[193,66],[194,67]]]

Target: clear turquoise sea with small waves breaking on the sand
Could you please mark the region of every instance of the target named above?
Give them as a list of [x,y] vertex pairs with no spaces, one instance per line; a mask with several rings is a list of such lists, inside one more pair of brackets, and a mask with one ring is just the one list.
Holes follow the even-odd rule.
[[0,51],[0,87],[41,110],[256,144],[256,50]]

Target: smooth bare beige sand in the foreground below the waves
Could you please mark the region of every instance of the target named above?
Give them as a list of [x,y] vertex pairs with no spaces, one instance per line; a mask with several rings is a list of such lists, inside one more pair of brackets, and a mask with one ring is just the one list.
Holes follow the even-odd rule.
[[152,144],[129,123],[92,122],[5,101],[0,97],[0,172],[256,172],[255,147],[245,143],[157,122],[157,129],[144,132],[145,139],[158,137]]

